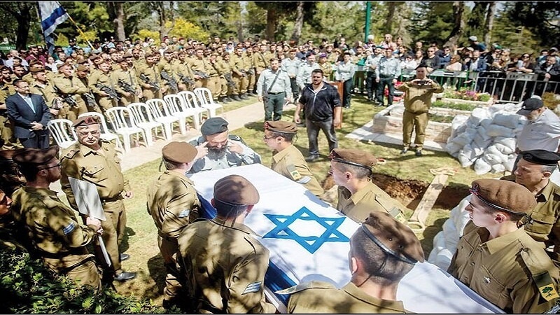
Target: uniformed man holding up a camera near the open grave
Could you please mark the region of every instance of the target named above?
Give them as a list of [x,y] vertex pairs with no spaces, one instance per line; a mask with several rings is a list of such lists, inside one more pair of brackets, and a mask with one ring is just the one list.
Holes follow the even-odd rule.
[[405,112],[402,114],[402,151],[405,154],[410,148],[412,131],[416,132],[416,156],[422,156],[426,126],[428,125],[428,111],[432,106],[432,95],[443,92],[443,87],[434,80],[427,78],[426,64],[416,66],[416,78],[402,83],[397,90],[405,92]]

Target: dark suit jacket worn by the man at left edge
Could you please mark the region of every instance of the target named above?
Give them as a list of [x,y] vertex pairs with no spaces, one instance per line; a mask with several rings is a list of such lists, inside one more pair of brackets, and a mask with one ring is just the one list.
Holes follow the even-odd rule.
[[[38,94],[29,94],[29,97],[31,97],[31,103],[35,106],[35,113],[31,111],[27,102],[19,93],[15,93],[6,99],[6,110],[10,120],[13,120],[16,138],[25,139],[35,137],[35,135],[38,136],[39,134],[49,134],[46,128],[51,116],[45,99]],[[45,129],[31,130],[31,123],[34,121],[41,123]]]

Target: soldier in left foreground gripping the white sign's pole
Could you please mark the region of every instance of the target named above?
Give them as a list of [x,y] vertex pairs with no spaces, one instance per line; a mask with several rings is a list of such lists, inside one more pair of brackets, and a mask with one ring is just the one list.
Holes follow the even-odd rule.
[[85,218],[80,225],[75,212],[49,189],[60,179],[59,148],[26,148],[13,156],[27,183],[13,193],[13,216],[25,225],[31,244],[43,263],[57,274],[66,274],[80,285],[101,288],[94,255],[85,246],[101,232],[101,221]]

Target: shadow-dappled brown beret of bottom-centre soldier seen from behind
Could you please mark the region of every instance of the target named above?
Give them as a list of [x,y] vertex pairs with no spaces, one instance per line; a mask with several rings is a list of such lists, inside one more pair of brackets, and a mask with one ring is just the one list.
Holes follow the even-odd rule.
[[398,260],[411,265],[424,261],[424,251],[418,237],[390,214],[372,211],[360,226],[360,230],[385,253]]

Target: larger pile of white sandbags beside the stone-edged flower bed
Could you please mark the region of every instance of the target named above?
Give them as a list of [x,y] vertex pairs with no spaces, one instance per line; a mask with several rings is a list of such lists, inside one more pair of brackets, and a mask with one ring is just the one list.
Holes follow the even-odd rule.
[[512,172],[515,145],[527,119],[517,115],[521,104],[478,107],[470,117],[455,116],[445,150],[461,162],[474,165],[476,174]]

